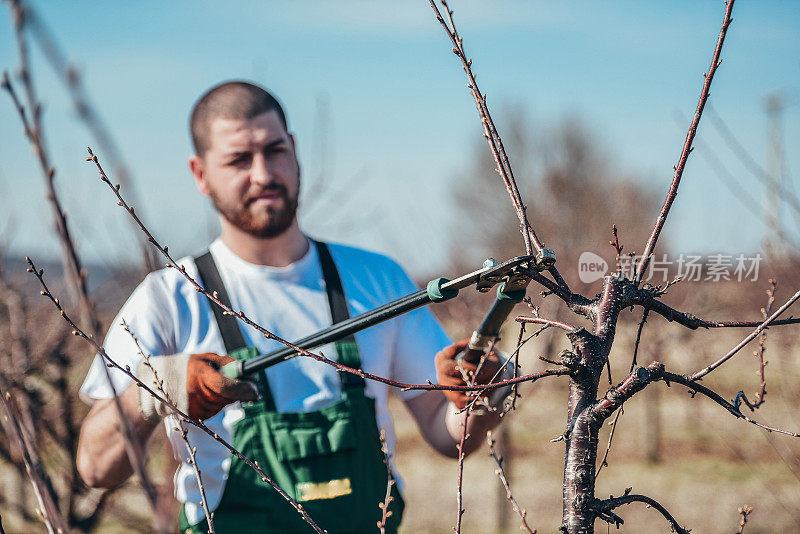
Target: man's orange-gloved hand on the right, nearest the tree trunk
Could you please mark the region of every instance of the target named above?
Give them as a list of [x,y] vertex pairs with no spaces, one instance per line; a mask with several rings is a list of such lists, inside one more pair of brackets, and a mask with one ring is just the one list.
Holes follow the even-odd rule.
[[[457,356],[467,350],[469,338],[457,341],[442,349],[436,355],[436,378],[443,386],[467,386],[471,385],[475,371],[478,369],[478,361],[472,362]],[[489,384],[502,380],[503,373],[498,373],[502,365],[500,357],[494,352],[490,353],[484,360],[480,372],[475,379],[475,385]],[[466,391],[445,391],[447,400],[452,402],[459,410],[463,409],[470,396]],[[488,393],[486,394],[488,396]]]

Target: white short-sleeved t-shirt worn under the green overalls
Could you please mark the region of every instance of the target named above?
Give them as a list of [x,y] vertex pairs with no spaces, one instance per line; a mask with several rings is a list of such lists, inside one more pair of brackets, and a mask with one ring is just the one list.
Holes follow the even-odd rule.
[[[355,316],[417,290],[403,269],[386,256],[347,247],[329,245],[342,280],[350,315]],[[317,248],[311,243],[308,253],[288,267],[268,267],[248,263],[234,254],[219,239],[209,250],[234,310],[242,310],[256,324],[289,341],[313,334],[331,324],[331,312],[319,265]],[[178,262],[189,276],[198,279],[192,258]],[[139,339],[145,353],[153,357],[179,352],[216,352],[225,354],[212,304],[175,269],[162,269],[148,275],[136,288],[114,320],[104,348],[117,363],[135,370],[142,357],[120,323],[124,319]],[[265,339],[256,329],[239,322],[245,343],[264,354],[282,345]],[[398,382],[424,384],[436,381],[433,357],[450,343],[431,313],[418,309],[355,334],[361,354],[362,369]],[[331,359],[332,345],[315,349]],[[81,387],[81,397],[111,398],[99,356]],[[121,393],[132,381],[125,374],[110,369],[114,388]],[[267,369],[267,379],[279,412],[318,410],[339,400],[341,379],[330,365],[298,356]],[[387,409],[388,386],[366,381],[366,395],[376,401],[377,423],[386,433],[389,450],[394,450],[394,432]],[[397,391],[409,399],[419,391]],[[233,425],[243,417],[239,403],[226,407],[206,424],[220,437],[232,442]],[[200,492],[194,471],[185,462],[186,447],[174,430],[176,420],[168,417],[164,426],[176,458],[182,459],[175,475],[175,493],[186,504],[187,519],[202,519]],[[191,425],[188,439],[197,447],[197,464],[203,473],[203,486],[212,510],[222,499],[230,453],[210,436]]]

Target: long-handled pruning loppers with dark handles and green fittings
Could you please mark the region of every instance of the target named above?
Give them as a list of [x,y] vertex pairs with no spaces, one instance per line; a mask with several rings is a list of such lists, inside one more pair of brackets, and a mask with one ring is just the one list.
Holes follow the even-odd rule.
[[[500,332],[500,327],[511,313],[512,308],[525,297],[525,291],[530,282],[530,276],[526,274],[527,271],[541,271],[551,267],[554,263],[555,253],[549,249],[542,249],[536,256],[517,256],[502,263],[490,258],[477,271],[460,276],[455,280],[434,278],[428,282],[425,289],[336,323],[295,341],[293,345],[303,350],[311,350],[333,343],[350,334],[355,334],[432,302],[450,300],[458,295],[461,289],[466,287],[474,285],[478,291],[485,293],[495,285],[500,284],[497,290],[497,299],[492,308],[486,314],[478,329],[472,334],[469,349],[464,356],[472,361],[475,358],[480,358],[485,352],[489,344]],[[222,373],[229,378],[241,378],[253,375],[299,354],[292,347],[283,347],[249,360],[231,362],[222,368]]]

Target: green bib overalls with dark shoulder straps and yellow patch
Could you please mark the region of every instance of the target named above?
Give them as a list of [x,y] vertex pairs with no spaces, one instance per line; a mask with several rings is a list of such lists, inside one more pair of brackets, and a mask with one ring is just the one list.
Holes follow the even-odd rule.
[[[324,243],[317,242],[323,278],[333,322],[349,317],[341,279]],[[195,258],[203,285],[230,305],[211,254]],[[237,359],[257,356],[245,347],[235,318],[212,304],[228,353]],[[353,335],[335,343],[337,361],[360,368],[361,358]],[[321,410],[278,413],[266,380],[258,377],[262,399],[244,403],[244,418],[233,427],[233,446],[258,465],[311,518],[330,534],[377,532],[388,482],[375,420],[375,400],[364,394],[364,379],[340,373],[342,398]],[[403,513],[403,499],[392,486],[392,512],[386,532],[396,532]],[[214,527],[220,534],[303,533],[313,529],[294,508],[244,462],[231,456],[222,501],[214,511]],[[190,525],[183,507],[181,532],[206,534],[203,519]]]

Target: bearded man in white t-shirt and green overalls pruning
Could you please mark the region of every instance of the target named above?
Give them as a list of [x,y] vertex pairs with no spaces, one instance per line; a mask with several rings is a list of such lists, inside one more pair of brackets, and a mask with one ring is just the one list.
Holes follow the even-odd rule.
[[[416,290],[392,260],[341,245],[309,239],[297,222],[300,169],[296,141],[280,104],[265,90],[227,82],[203,95],[191,121],[195,155],[189,168],[198,190],[220,215],[222,232],[197,258],[179,264],[192,278],[216,291],[244,313],[284,339],[295,340]],[[143,363],[125,320],[152,355]],[[408,313],[318,349],[351,367],[404,383],[439,380],[463,384],[456,362],[465,342],[450,344],[425,309]],[[388,387],[310,358],[296,357],[270,367],[253,382],[232,380],[219,369],[233,357],[246,359],[280,347],[255,329],[237,323],[195,291],[176,270],[151,273],[120,311],[105,348],[148,383],[164,381],[171,400],[204,419],[219,436],[257,460],[290,496],[300,501],[330,532],[376,529],[387,472],[379,433],[394,446],[387,411]],[[436,362],[434,364],[434,354]],[[132,468],[125,452],[118,413],[99,357],[81,389],[92,402],[83,422],[78,470],[89,486],[108,487],[126,480]],[[481,372],[499,368],[493,357]],[[176,457],[184,444],[169,409],[145,394],[122,373],[113,372],[124,416],[142,446],[163,421]],[[447,456],[457,456],[463,433],[463,393],[398,391],[425,440]],[[450,400],[448,400],[448,398]],[[474,450],[499,418],[469,418],[466,452]],[[294,532],[308,530],[282,497],[238,458],[191,427],[217,532]],[[183,503],[181,528],[206,532],[193,468],[182,463],[175,477]],[[389,530],[396,529],[402,498],[395,490]]]

